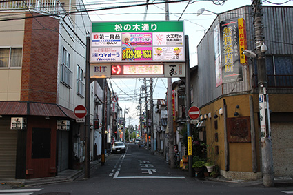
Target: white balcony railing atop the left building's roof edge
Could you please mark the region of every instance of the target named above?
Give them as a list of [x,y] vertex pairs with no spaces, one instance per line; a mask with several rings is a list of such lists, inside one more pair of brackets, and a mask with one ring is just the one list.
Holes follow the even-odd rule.
[[62,6],[57,0],[29,0],[29,1],[6,1],[0,2],[1,11],[33,10],[47,14],[58,14]]

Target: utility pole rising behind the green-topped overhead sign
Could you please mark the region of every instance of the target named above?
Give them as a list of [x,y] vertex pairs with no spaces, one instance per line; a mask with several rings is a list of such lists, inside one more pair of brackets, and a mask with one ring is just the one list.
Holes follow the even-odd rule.
[[[165,19],[169,21],[169,5],[168,0],[165,0]],[[168,161],[170,167],[175,168],[174,162],[174,130],[173,130],[173,106],[172,106],[172,78],[168,77]]]

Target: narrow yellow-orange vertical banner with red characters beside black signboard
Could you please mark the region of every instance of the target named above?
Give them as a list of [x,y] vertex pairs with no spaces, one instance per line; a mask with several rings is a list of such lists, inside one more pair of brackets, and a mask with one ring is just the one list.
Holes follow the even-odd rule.
[[247,57],[243,54],[243,51],[247,49],[246,39],[246,22],[243,18],[238,19],[238,30],[239,30],[239,52],[240,52],[240,63],[247,65]]

